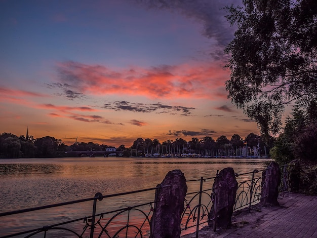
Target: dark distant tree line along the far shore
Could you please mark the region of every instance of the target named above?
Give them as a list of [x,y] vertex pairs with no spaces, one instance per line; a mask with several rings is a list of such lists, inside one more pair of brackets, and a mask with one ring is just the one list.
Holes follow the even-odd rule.
[[[237,148],[244,146],[244,141],[248,143],[249,147],[256,146],[259,152],[264,154],[269,152],[273,147],[274,138],[266,140],[254,133],[250,133],[245,139],[239,135],[232,135],[231,139],[226,136],[220,136],[214,140],[210,136],[206,136],[199,140],[193,137],[190,141],[182,138],[167,140],[160,143],[158,139],[142,139],[137,138],[130,147],[120,145],[116,148],[125,157],[129,156],[145,156],[147,153],[197,153],[203,155],[235,155]],[[75,142],[72,145],[65,145],[61,139],[56,139],[51,136],[45,136],[34,139],[33,136],[21,135],[17,136],[11,133],[2,133],[0,135],[0,157],[1,158],[19,158],[19,157],[65,157],[69,156],[68,151],[105,151],[106,148],[112,147],[107,145],[99,145],[93,142]],[[264,151],[264,148],[267,151]]]

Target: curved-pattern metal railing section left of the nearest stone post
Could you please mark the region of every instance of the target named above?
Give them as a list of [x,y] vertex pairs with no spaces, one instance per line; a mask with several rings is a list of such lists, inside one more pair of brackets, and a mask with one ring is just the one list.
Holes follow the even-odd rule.
[[[115,209],[108,212],[97,213],[97,202],[103,199],[109,199],[110,197],[124,196],[133,193],[142,193],[151,190],[157,190],[166,188],[169,186],[156,186],[153,188],[141,189],[136,191],[122,192],[110,195],[102,195],[97,192],[94,197],[88,199],[76,200],[71,202],[53,204],[48,206],[41,206],[30,209],[17,210],[12,212],[0,213],[0,217],[22,214],[27,212],[34,212],[38,210],[46,210],[49,208],[56,208],[72,204],[82,204],[85,202],[93,201],[92,214],[90,216],[80,217],[76,219],[70,219],[64,222],[46,225],[39,228],[28,229],[21,232],[16,232],[12,234],[7,234],[1,236],[1,238],[21,236],[23,237],[36,237],[35,235],[42,233],[42,237],[46,237],[50,233],[50,237],[60,237],[60,231],[63,231],[63,236],[66,237],[101,237],[105,235],[106,237],[117,237],[117,235],[125,235],[125,237],[146,237],[150,233],[150,216],[153,213],[154,201],[145,202],[131,207],[124,207],[120,209]],[[131,217],[137,216],[137,222],[131,219]],[[118,218],[118,219],[117,219]],[[117,220],[115,220],[117,219]],[[74,224],[71,228],[65,225]],[[81,225],[82,224],[82,225]],[[130,234],[133,234],[131,236]],[[147,235],[148,234],[148,235]]]

